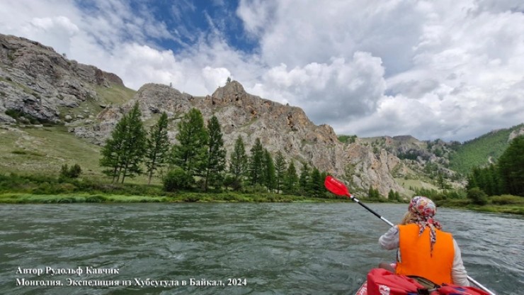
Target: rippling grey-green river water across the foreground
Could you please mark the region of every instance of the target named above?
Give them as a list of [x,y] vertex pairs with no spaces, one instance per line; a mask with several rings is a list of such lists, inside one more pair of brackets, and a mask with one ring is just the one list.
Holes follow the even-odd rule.
[[[406,209],[368,206],[393,223]],[[524,294],[524,218],[437,217],[470,277]],[[0,205],[0,224],[0,294],[354,294],[394,260],[387,224],[353,203]]]

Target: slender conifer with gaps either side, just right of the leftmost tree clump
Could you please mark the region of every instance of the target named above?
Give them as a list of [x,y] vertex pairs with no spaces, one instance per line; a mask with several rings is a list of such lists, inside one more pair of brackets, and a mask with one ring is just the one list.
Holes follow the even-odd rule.
[[164,167],[168,158],[169,137],[167,136],[167,123],[167,114],[164,112],[160,116],[159,121],[149,130],[144,161],[149,174],[147,184],[151,184],[154,172]]

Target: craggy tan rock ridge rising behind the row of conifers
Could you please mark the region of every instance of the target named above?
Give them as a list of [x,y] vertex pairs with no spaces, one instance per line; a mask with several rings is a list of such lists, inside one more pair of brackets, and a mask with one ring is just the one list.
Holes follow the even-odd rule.
[[[198,108],[205,118],[217,116],[229,152],[234,141],[241,136],[249,152],[256,138],[273,154],[283,152],[288,161],[314,165],[351,182],[360,191],[370,186],[387,196],[389,189],[403,192],[391,174],[400,165],[397,157],[382,150],[375,155],[372,148],[338,141],[333,128],[316,126],[304,111],[295,106],[285,106],[268,99],[246,93],[239,82],[232,81],[205,97],[181,93],[163,84],[145,84],[134,99],[123,106],[110,106],[98,114],[97,122],[72,128],[76,135],[103,144],[110,130],[135,103],[139,104],[144,121],[154,123],[159,113],[166,112],[171,119],[170,138],[176,143],[176,123],[190,108]],[[301,164],[302,163],[302,164]]]

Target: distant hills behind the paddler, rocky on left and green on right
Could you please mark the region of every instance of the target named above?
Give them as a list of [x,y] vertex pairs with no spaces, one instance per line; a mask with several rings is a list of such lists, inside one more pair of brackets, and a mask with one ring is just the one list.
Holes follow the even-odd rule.
[[434,182],[443,174],[449,182],[463,184],[465,176],[474,167],[496,162],[513,138],[524,135],[524,124],[493,130],[465,143],[443,140],[418,140],[411,135],[357,138],[340,135],[341,141],[359,142],[372,147],[374,152],[385,149],[399,157],[406,169],[394,170],[394,177],[426,179]]

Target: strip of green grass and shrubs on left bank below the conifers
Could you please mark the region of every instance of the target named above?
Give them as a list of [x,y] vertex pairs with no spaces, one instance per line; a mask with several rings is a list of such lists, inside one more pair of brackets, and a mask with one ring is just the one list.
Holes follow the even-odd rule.
[[[74,169],[68,169],[69,172]],[[137,203],[137,202],[307,202],[344,201],[268,193],[263,188],[244,191],[165,191],[161,185],[120,184],[45,175],[0,174],[0,203]]]

